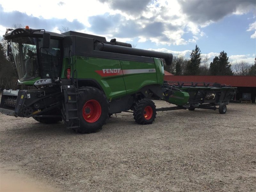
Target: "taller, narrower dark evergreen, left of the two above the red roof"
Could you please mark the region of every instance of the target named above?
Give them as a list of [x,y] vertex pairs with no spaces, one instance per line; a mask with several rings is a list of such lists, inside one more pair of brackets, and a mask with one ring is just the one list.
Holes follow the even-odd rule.
[[196,49],[193,49],[190,53],[190,60],[187,65],[187,75],[199,75],[200,64],[201,64],[201,51],[199,47],[196,45]]

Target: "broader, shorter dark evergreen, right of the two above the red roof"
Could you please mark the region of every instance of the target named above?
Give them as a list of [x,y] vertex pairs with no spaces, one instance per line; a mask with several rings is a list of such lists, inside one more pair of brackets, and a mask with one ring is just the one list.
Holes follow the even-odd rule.
[[233,75],[227,53],[222,51],[210,64],[211,75]]

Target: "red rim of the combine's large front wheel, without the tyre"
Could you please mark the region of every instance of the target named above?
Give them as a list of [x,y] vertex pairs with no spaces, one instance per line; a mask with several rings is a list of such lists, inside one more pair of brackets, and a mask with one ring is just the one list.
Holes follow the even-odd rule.
[[84,104],[83,117],[88,123],[96,122],[101,115],[100,103],[96,100],[89,100]]

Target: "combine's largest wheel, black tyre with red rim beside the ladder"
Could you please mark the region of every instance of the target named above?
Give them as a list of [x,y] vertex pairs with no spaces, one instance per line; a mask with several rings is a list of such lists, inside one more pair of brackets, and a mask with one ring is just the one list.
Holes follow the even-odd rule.
[[77,132],[91,133],[102,129],[108,118],[109,105],[105,94],[95,87],[82,87],[78,91]]

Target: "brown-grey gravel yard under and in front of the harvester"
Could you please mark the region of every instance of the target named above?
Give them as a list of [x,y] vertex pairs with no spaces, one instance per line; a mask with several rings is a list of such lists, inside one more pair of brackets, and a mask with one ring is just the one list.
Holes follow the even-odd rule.
[[255,104],[231,103],[224,115],[158,112],[150,125],[121,113],[92,134],[0,114],[1,188],[25,182],[24,191],[256,191],[255,111]]

